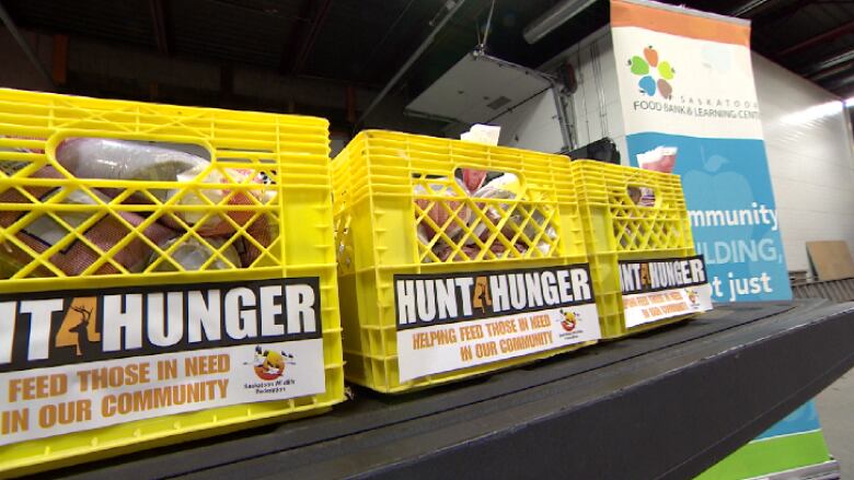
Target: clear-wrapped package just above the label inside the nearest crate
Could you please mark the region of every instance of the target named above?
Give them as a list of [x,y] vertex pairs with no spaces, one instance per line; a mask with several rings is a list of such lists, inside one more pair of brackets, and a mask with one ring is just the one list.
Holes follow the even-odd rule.
[[[170,257],[186,271],[200,270],[201,267],[211,257],[214,257],[214,249],[219,250],[226,244],[226,241],[217,237],[205,238],[205,242],[210,245],[203,244],[201,241],[191,238],[172,238],[168,241],[162,248],[169,249],[172,245],[177,244],[175,248],[170,253]],[[224,260],[222,259],[224,257]],[[152,253],[149,264],[157,261],[160,258],[158,253]],[[228,260],[228,261],[226,261]],[[220,256],[216,257],[214,261],[205,266],[205,270],[230,270],[233,268],[240,268],[241,260],[238,250],[233,245],[226,247]],[[163,259],[153,268],[154,271],[176,271],[177,268],[169,260]]]

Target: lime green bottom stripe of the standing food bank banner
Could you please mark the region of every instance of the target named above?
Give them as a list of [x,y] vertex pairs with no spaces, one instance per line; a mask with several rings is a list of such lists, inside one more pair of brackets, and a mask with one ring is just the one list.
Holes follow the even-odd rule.
[[821,431],[750,442],[696,480],[742,480],[830,460]]

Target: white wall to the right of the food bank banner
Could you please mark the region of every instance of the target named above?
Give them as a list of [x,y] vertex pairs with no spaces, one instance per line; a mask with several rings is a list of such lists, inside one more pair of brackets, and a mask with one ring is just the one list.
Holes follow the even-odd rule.
[[788,269],[808,269],[809,241],[843,239],[854,253],[847,112],[829,92],[755,54],[753,72]]

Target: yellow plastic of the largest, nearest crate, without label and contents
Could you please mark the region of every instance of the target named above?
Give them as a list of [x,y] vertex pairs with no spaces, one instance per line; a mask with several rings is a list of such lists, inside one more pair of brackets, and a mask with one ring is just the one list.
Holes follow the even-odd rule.
[[[224,179],[211,184],[76,178],[55,156],[57,145],[67,138],[197,145],[209,152],[211,172],[218,172]],[[53,167],[56,174],[37,173],[46,167]],[[233,168],[251,173],[246,178],[262,174],[269,182],[239,183],[234,175],[229,176]],[[0,294],[4,301],[31,293],[50,296],[54,291],[96,296],[107,291],[105,289],[143,291],[176,285],[180,290],[181,285],[184,289],[216,288],[227,284],[224,282],[249,285],[256,281],[277,282],[278,279],[318,279],[315,288],[320,300],[315,305],[321,315],[322,371],[325,375],[325,391],[316,395],[136,420],[0,446],[0,475],[32,473],[262,422],[304,417],[325,411],[344,400],[326,120],[0,90],[0,171],[3,172],[0,173],[0,218],[4,219],[0,225],[0,248],[14,251],[20,262],[14,268],[7,266],[7,278],[0,279]],[[120,194],[111,199],[95,192],[95,189],[106,188]],[[53,194],[38,196],[48,190]],[[176,194],[164,200],[159,195],[166,190]],[[65,202],[72,194],[91,200]],[[128,201],[131,195],[146,201]],[[226,198],[221,198],[223,195]],[[234,200],[239,195],[243,195],[244,200]],[[197,201],[180,201],[182,196],[195,196]],[[15,200],[10,201],[10,198]],[[141,223],[129,222],[129,213],[142,219]],[[76,222],[66,221],[69,215],[76,215]],[[198,220],[189,222],[188,215]],[[50,219],[65,229],[51,246],[34,247],[30,237],[22,234],[39,219]],[[149,238],[147,229],[152,229],[158,220],[178,225],[175,242],[160,245]],[[88,229],[104,221],[115,223],[125,234],[109,248],[86,236]],[[209,237],[199,235],[197,226],[207,221],[224,222],[229,233],[221,242],[214,244]],[[264,231],[272,232],[269,237],[263,237],[265,239],[253,236],[253,225],[262,225],[261,222],[267,222]],[[211,255],[199,270],[185,270],[175,260],[175,247],[186,242],[206,246]],[[236,247],[238,243],[244,254],[252,251],[251,257],[246,257],[251,265],[235,265],[226,255],[226,248]],[[148,251],[153,261],[137,271],[123,257],[125,249]],[[69,257],[65,255],[68,251],[77,254]],[[84,257],[94,255],[96,260],[73,272],[78,274],[68,274],[67,262],[79,259],[81,251]],[[220,264],[220,269],[212,268],[215,261]],[[224,290],[222,294],[226,295]],[[247,297],[241,296],[238,302],[243,302],[240,298]],[[284,296],[281,302],[285,302]],[[238,305],[241,312],[247,307],[247,304]],[[281,305],[279,307],[281,309]],[[3,312],[5,315],[8,311]],[[258,305],[258,312],[263,312],[262,305]],[[243,319],[244,314],[240,315]],[[245,315],[250,318],[250,314]],[[227,320],[220,317],[220,321]],[[245,324],[239,324],[241,328],[249,328],[250,320],[243,321]],[[151,328],[150,324],[148,328]],[[261,328],[266,327],[262,324]],[[0,331],[0,339],[9,335],[8,329]],[[89,341],[92,340],[90,335],[86,333]],[[206,335],[208,339],[212,338],[211,333]],[[78,337],[78,355],[80,342]],[[258,343],[264,344],[263,339]],[[238,367],[236,360],[231,361],[230,367]],[[285,372],[284,363],[279,371]],[[318,383],[316,388],[324,388],[322,382]],[[7,395],[7,386],[0,386],[0,395]],[[3,401],[4,409],[11,407],[7,398]],[[35,415],[35,411],[31,413]]]

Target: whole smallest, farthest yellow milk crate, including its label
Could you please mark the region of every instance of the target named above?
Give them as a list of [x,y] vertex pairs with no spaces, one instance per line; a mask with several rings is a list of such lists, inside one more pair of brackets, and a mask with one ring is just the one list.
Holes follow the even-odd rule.
[[619,338],[712,308],[679,176],[573,162],[602,338]]

